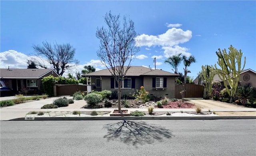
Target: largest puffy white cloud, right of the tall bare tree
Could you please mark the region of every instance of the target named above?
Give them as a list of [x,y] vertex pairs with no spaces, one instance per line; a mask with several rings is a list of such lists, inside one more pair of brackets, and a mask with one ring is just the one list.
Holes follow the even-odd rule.
[[190,30],[183,31],[182,29],[171,28],[164,34],[154,36],[142,34],[135,39],[138,46],[174,46],[179,43],[184,43],[192,38],[192,32]]

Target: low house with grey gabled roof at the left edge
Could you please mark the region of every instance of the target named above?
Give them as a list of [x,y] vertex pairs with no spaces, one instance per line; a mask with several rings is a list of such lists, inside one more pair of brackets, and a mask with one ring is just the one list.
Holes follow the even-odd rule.
[[0,79],[6,87],[19,92],[28,87],[33,94],[40,92],[41,79],[49,75],[59,76],[53,69],[0,69]]

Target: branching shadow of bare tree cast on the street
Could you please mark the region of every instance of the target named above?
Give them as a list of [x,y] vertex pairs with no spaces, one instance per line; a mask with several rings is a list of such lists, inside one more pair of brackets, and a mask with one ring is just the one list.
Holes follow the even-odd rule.
[[108,130],[104,136],[107,140],[120,140],[127,144],[152,144],[155,140],[162,142],[163,138],[172,138],[172,131],[157,124],[143,121],[120,121],[103,126]]

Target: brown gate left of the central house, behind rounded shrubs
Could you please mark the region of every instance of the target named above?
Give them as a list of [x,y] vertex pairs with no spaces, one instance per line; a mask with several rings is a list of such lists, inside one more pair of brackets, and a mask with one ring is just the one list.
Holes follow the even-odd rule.
[[86,85],[57,85],[57,96],[73,95],[76,91],[87,91]]

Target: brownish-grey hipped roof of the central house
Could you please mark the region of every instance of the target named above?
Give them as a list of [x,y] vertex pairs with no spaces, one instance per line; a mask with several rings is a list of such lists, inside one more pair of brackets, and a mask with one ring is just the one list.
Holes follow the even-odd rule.
[[[124,66],[124,70],[126,70],[127,66]],[[163,70],[153,70],[147,67],[142,66],[130,66],[128,69],[126,76],[140,76],[140,75],[161,75],[161,76],[179,76],[178,74],[170,73]],[[103,69],[100,71],[95,71],[92,73],[85,74],[85,76],[111,76],[111,73],[108,69]]]

